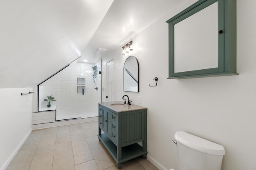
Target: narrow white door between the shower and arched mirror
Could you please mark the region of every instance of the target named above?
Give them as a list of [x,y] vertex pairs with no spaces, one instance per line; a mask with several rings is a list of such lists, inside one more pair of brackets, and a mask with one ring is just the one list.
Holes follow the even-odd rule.
[[108,102],[113,102],[115,98],[115,66],[114,60],[107,63],[107,96]]

